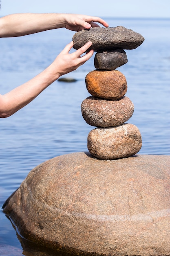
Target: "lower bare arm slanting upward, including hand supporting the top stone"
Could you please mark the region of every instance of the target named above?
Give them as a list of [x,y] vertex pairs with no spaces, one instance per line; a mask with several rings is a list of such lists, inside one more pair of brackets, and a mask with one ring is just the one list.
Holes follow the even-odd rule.
[[93,50],[82,57],[81,55],[86,52],[91,45],[92,43],[88,42],[76,52],[69,54],[70,49],[73,47],[73,42],[69,43],[57,58],[55,58],[53,63],[40,74],[7,94],[0,94],[0,117],[4,118],[13,115],[35,99],[38,94],[60,76],[84,64],[93,55]]

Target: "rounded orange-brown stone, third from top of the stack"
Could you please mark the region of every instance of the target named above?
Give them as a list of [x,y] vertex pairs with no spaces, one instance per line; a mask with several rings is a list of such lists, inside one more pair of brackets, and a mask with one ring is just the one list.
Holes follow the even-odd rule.
[[118,70],[93,70],[86,75],[88,92],[103,99],[120,99],[127,92],[127,81]]

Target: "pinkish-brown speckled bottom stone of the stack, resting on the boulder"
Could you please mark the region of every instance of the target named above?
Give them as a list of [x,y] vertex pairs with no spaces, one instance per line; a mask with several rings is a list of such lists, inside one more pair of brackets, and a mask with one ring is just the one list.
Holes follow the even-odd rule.
[[142,146],[139,129],[133,124],[111,128],[95,128],[88,134],[89,152],[104,160],[135,155]]

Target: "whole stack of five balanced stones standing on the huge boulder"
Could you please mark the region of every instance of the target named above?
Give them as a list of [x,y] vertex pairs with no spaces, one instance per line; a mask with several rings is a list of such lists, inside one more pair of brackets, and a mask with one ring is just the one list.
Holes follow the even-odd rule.
[[87,124],[96,126],[88,134],[88,150],[99,159],[118,159],[135,155],[141,149],[139,129],[124,124],[132,115],[134,105],[126,96],[126,77],[115,70],[128,62],[124,49],[135,49],[144,38],[125,27],[95,27],[73,36],[73,47],[79,49],[88,41],[93,45],[96,70],[86,76],[86,88],[92,95],[81,105]]

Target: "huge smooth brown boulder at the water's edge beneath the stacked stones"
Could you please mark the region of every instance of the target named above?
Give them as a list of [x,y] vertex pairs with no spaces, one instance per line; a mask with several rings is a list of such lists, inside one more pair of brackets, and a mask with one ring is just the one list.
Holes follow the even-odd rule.
[[35,167],[3,211],[56,255],[169,256],[169,180],[168,155],[61,155]]

